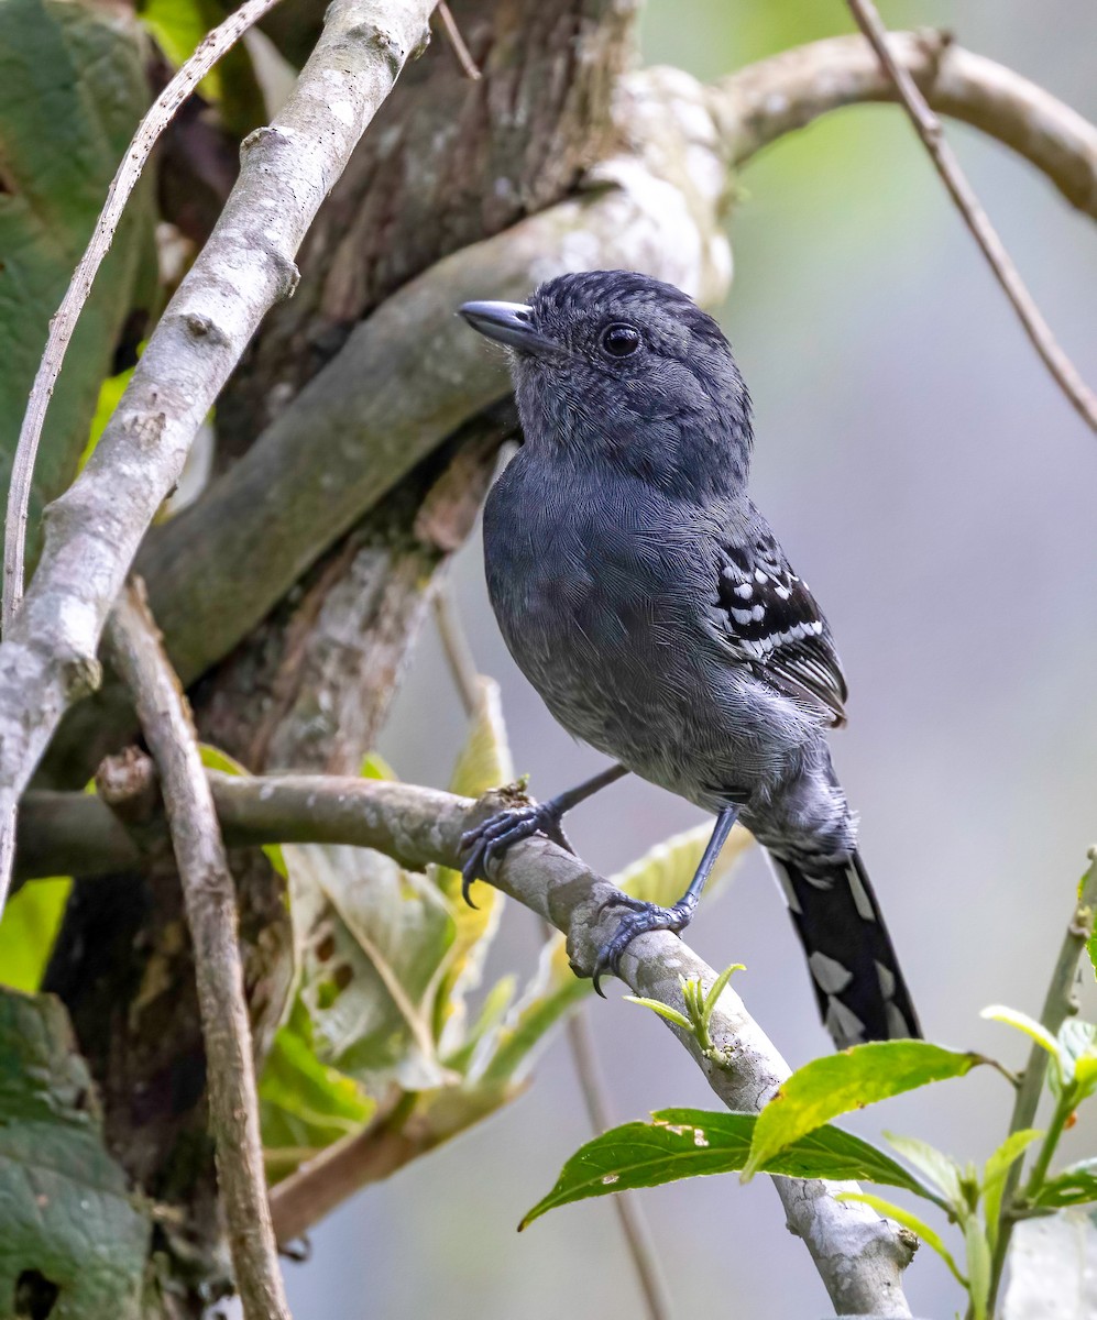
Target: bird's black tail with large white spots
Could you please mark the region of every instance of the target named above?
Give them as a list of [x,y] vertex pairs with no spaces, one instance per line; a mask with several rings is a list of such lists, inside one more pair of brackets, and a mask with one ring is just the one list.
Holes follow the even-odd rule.
[[811,870],[770,854],[837,1049],[920,1036],[917,1014],[861,857]]

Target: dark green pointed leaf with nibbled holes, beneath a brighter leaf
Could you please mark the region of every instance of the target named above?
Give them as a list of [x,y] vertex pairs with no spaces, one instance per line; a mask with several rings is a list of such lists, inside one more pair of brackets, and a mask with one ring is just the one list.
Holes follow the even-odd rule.
[[[651,1123],[624,1123],[587,1142],[568,1160],[556,1187],[519,1225],[558,1205],[682,1177],[730,1173],[750,1154],[755,1114],[664,1109]],[[838,1127],[821,1127],[774,1156],[766,1172],[789,1177],[871,1179],[907,1191],[917,1181],[883,1151]]]

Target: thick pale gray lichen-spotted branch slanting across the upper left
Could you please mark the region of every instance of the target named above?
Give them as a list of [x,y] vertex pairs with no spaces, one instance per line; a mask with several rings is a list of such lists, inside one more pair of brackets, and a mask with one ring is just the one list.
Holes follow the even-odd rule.
[[42,558],[0,645],[0,907],[15,804],[65,709],[99,681],[107,614],[198,426],[327,190],[421,45],[433,0],[335,0],[269,128],[243,147],[210,242],[160,319],[84,471],[48,510]]

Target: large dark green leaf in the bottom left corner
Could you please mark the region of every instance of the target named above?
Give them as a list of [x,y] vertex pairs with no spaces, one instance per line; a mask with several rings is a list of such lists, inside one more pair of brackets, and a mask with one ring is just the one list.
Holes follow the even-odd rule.
[[22,1279],[40,1298],[57,1290],[50,1320],[137,1320],[149,1221],[51,995],[0,991],[0,1224],[4,1315]]

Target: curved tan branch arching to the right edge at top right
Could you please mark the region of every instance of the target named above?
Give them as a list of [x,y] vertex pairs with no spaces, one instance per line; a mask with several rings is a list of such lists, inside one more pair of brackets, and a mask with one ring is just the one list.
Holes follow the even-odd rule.
[[[935,111],[1010,147],[1072,206],[1097,219],[1097,127],[1043,87],[940,33],[891,33],[888,48]],[[859,36],[816,41],[750,65],[717,83],[712,96],[735,165],[832,110],[898,99]]]

